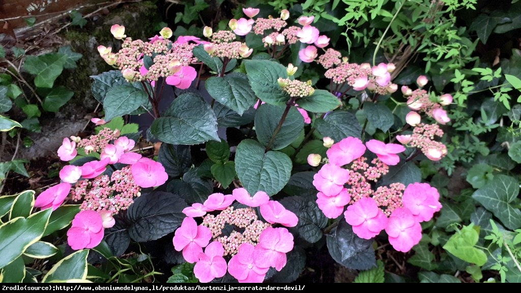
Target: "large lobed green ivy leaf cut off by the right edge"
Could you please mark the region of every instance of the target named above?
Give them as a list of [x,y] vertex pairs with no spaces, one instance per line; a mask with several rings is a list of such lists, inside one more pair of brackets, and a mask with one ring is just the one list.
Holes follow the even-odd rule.
[[489,184],[472,194],[473,199],[501,219],[509,229],[521,227],[521,211],[516,202],[518,196],[519,180],[506,175],[495,175]]

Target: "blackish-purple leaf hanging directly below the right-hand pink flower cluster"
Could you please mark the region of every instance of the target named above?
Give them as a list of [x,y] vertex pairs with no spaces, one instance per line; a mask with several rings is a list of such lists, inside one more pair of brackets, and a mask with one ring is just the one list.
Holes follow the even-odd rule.
[[339,264],[352,270],[369,270],[376,266],[373,240],[356,236],[343,218],[326,238],[329,254]]

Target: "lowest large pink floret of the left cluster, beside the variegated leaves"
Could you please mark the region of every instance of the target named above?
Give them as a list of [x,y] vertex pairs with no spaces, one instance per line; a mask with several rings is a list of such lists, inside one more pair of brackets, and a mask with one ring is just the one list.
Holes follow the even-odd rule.
[[103,240],[103,219],[97,212],[84,210],[76,214],[67,231],[67,243],[74,250],[94,248]]

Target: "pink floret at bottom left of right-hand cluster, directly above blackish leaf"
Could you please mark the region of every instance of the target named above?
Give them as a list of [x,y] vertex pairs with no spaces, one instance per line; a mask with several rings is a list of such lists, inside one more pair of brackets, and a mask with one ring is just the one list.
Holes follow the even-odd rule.
[[387,227],[387,216],[379,209],[375,200],[369,197],[359,199],[344,212],[345,222],[353,226],[353,233],[364,239],[371,239]]

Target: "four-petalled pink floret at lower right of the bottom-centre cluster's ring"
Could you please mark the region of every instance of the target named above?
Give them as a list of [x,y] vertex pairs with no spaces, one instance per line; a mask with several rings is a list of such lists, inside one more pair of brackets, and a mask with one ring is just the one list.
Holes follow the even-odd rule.
[[286,265],[286,253],[293,249],[293,235],[286,228],[267,227],[259,236],[253,258],[261,267],[275,267],[280,272]]

